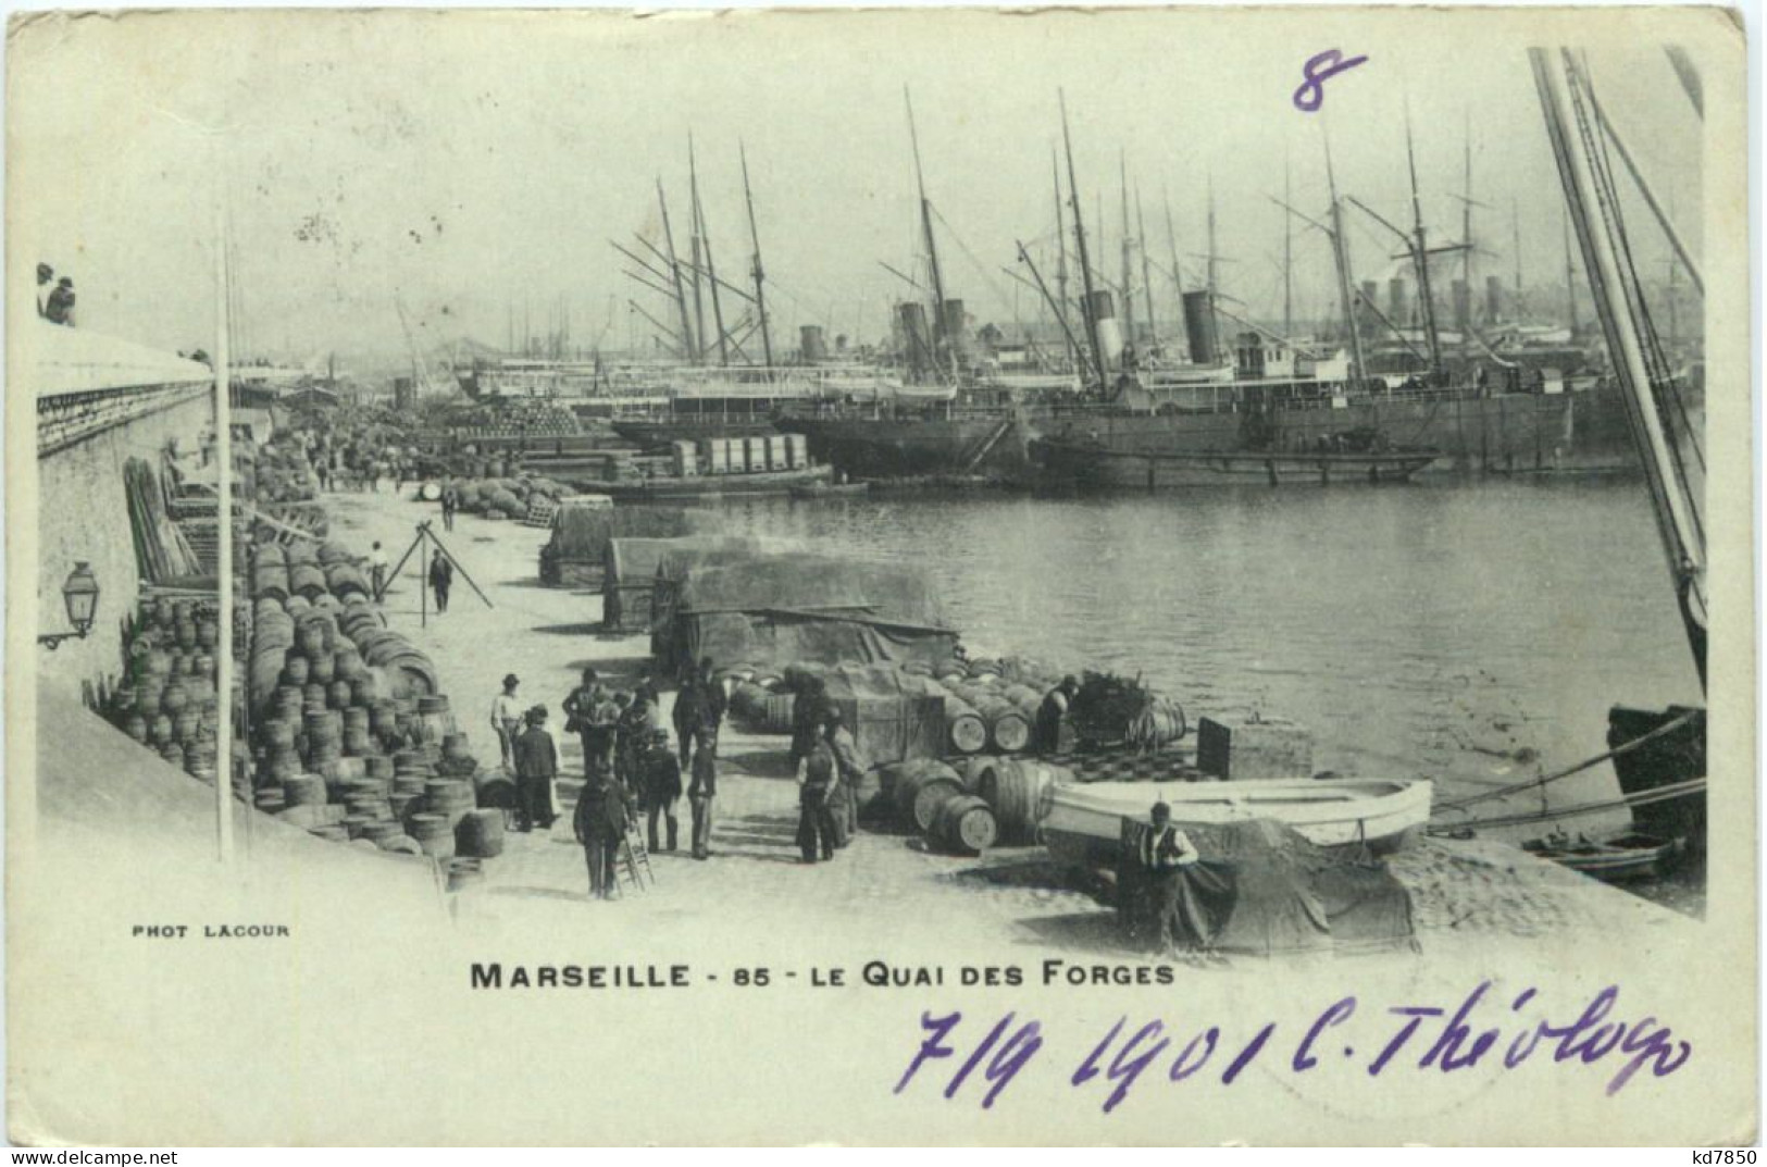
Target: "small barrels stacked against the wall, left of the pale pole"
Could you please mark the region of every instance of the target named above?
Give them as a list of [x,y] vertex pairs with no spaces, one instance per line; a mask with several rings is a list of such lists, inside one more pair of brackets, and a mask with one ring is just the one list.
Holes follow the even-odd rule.
[[120,730],[203,782],[214,782],[221,732],[214,614],[212,601],[143,601],[124,637],[124,681],[106,700]]

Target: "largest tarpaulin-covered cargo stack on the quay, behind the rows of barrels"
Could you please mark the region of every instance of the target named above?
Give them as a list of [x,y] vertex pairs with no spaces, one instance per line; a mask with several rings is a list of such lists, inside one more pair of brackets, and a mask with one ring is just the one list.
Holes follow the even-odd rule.
[[940,661],[956,647],[931,582],[914,568],[825,555],[666,555],[657,569],[664,663]]

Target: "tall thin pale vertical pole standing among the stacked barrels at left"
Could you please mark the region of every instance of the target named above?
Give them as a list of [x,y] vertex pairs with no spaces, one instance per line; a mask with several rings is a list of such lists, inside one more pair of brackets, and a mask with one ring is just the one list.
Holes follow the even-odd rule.
[[[221,145],[216,147],[221,152]],[[217,497],[217,562],[216,592],[219,599],[216,622],[219,624],[216,661],[216,688],[224,718],[217,718],[216,727],[216,852],[223,865],[233,863],[233,416],[228,401],[228,269],[226,269],[226,161],[219,164],[216,198],[216,456],[219,490]]]

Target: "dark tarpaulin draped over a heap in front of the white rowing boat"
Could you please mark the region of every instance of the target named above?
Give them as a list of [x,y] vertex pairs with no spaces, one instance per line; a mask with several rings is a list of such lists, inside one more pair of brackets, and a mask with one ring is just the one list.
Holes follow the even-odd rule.
[[[1145,822],[1124,820],[1126,843]],[[1354,850],[1325,850],[1270,819],[1184,826],[1202,854],[1179,868],[1172,905],[1182,946],[1270,957],[1301,951],[1415,948],[1412,900],[1384,863]],[[1124,872],[1124,904],[1156,911],[1138,895],[1145,875]],[[1154,921],[1131,919],[1147,935]]]

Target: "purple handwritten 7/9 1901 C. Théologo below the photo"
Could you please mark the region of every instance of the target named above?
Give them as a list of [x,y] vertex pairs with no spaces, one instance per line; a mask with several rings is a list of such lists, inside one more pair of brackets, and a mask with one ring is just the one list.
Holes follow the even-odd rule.
[[[1537,988],[1523,990],[1504,1008],[1491,994],[1491,981],[1483,981],[1452,1011],[1433,1004],[1371,1011],[1361,1008],[1355,997],[1343,997],[1313,1017],[1304,1029],[1279,1033],[1272,1020],[1248,1027],[1249,1036],[1228,1036],[1221,1026],[1202,1026],[1194,1033],[1168,1029],[1159,1020],[1131,1029],[1129,1018],[1122,1017],[1071,1073],[1069,1084],[1078,1089],[1103,1077],[1101,1105],[1110,1114],[1152,1066],[1164,1066],[1172,1082],[1202,1075],[1232,1086],[1265,1050],[1276,1050],[1270,1057],[1286,1057],[1278,1066],[1290,1073],[1309,1073],[1323,1063],[1343,1061],[1361,1066],[1369,1079],[1380,1079],[1414,1057],[1417,1070],[1454,1073],[1481,1063],[1514,1070],[1536,1052],[1550,1052],[1555,1064],[1608,1063],[1613,1073],[1606,1093],[1612,1096],[1640,1070],[1668,1077],[1693,1056],[1693,1045],[1677,1040],[1654,1017],[1610,1020],[1619,997],[1619,987],[1610,985],[1569,1020],[1553,1020],[1541,1015]],[[921,1015],[921,1045],[896,1082],[898,1095],[924,1066],[949,1059],[956,1070],[945,1084],[945,1098],[956,1098],[965,1082],[981,1072],[977,1091],[982,1109],[990,1109],[1044,1045],[1037,1020],[1020,1022],[1016,1013],[1007,1013],[958,1061],[958,1043],[952,1038],[961,1022],[963,1013],[958,1011]],[[1357,1036],[1373,1040],[1373,1045],[1364,1047],[1362,1059],[1355,1057]],[[1498,1045],[1504,1045],[1500,1052]]]

